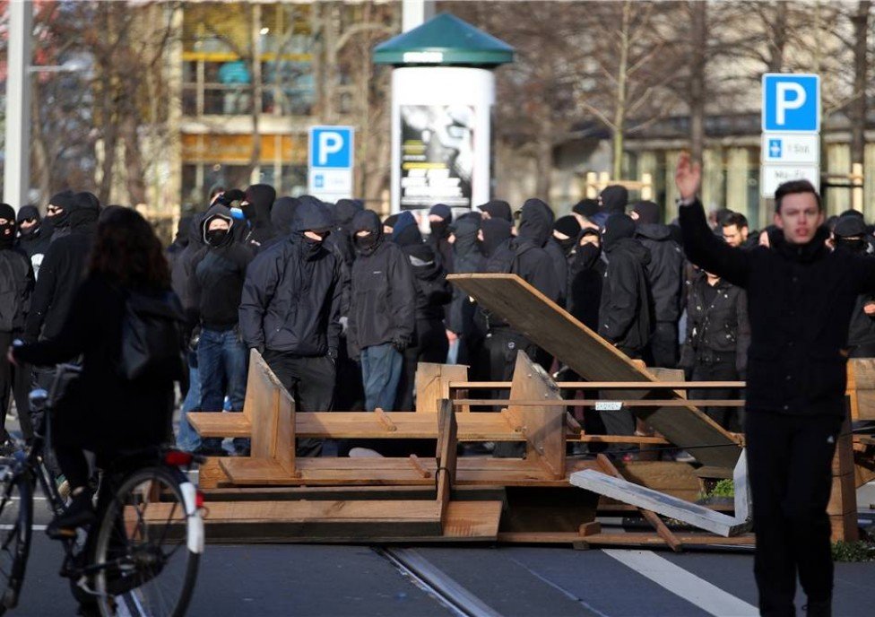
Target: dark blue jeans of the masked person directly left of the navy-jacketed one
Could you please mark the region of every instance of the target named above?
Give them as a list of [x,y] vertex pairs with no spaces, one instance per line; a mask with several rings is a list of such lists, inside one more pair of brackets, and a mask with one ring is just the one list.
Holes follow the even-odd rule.
[[[201,411],[221,412],[227,388],[231,411],[242,412],[246,398],[248,353],[237,328],[201,330],[197,344],[197,368],[201,381]],[[238,449],[248,448],[248,439],[234,439]],[[204,439],[204,448],[221,448],[221,439]]]

